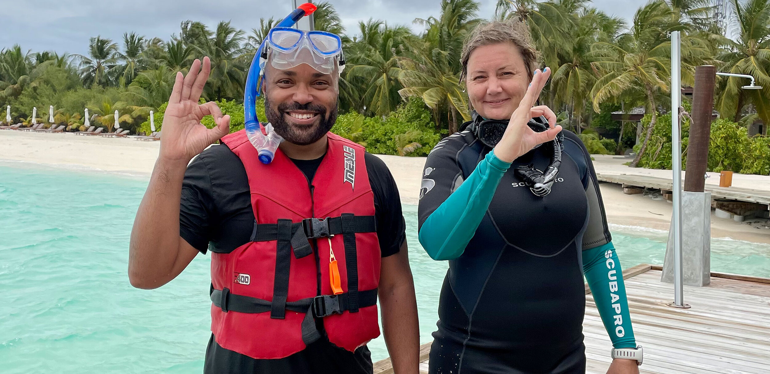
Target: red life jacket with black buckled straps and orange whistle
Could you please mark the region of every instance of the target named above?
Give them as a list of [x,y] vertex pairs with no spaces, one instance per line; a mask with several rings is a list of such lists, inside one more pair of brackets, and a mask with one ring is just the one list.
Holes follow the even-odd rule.
[[[320,337],[313,316],[330,342],[349,351],[380,336],[380,244],[363,147],[329,132],[310,189],[280,149],[264,165],[245,131],[222,141],[246,167],[256,223],[250,242],[212,253],[211,331],[219,346],[254,359],[290,356]],[[330,245],[340,295],[330,284]]]

